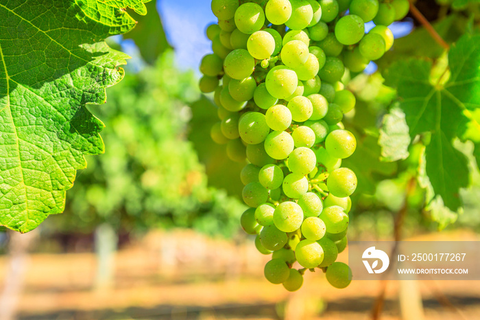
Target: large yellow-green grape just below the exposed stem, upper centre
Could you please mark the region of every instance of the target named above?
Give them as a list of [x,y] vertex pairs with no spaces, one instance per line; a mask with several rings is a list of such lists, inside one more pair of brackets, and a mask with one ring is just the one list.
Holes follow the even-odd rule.
[[[302,43],[302,45],[304,45],[304,43]],[[276,66],[267,73],[265,85],[267,86],[267,91],[275,98],[288,98],[293,92],[295,92],[295,89],[297,89],[297,73],[285,66]]]

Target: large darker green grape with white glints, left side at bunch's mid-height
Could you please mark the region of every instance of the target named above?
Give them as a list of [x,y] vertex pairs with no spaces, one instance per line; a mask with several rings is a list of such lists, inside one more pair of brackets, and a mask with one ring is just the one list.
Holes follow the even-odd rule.
[[270,128],[263,113],[250,112],[241,117],[239,132],[241,139],[247,144],[260,144],[267,137]]

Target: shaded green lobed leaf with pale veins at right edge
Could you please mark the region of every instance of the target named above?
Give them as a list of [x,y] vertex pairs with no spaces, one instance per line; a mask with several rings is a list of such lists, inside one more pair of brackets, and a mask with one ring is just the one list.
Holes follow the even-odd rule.
[[448,56],[451,78],[431,83],[431,62],[396,62],[385,72],[387,85],[398,88],[410,136],[431,133],[425,150],[426,174],[446,207],[456,211],[459,190],[469,183],[468,160],[453,147],[462,124],[480,107],[480,36],[463,36]]

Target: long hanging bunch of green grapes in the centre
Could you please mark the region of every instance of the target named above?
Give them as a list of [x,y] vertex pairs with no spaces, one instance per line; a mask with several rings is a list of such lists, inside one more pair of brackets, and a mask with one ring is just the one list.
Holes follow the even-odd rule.
[[[265,277],[294,291],[320,268],[345,288],[350,268],[335,261],[357,177],[341,161],[357,141],[341,122],[356,102],[344,75],[392,47],[387,26],[409,1],[213,0],[211,8],[218,23],[206,29],[213,54],[202,59],[200,89],[218,106],[212,139],[247,163],[241,226],[272,255]],[[376,26],[365,34],[369,21]]]

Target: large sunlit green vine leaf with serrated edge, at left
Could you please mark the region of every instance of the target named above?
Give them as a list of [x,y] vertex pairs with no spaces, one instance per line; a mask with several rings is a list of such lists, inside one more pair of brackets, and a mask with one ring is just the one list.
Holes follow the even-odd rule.
[[125,54],[104,39],[132,29],[145,0],[0,3],[0,225],[21,232],[59,214],[84,155],[104,151],[86,104],[106,101]]

